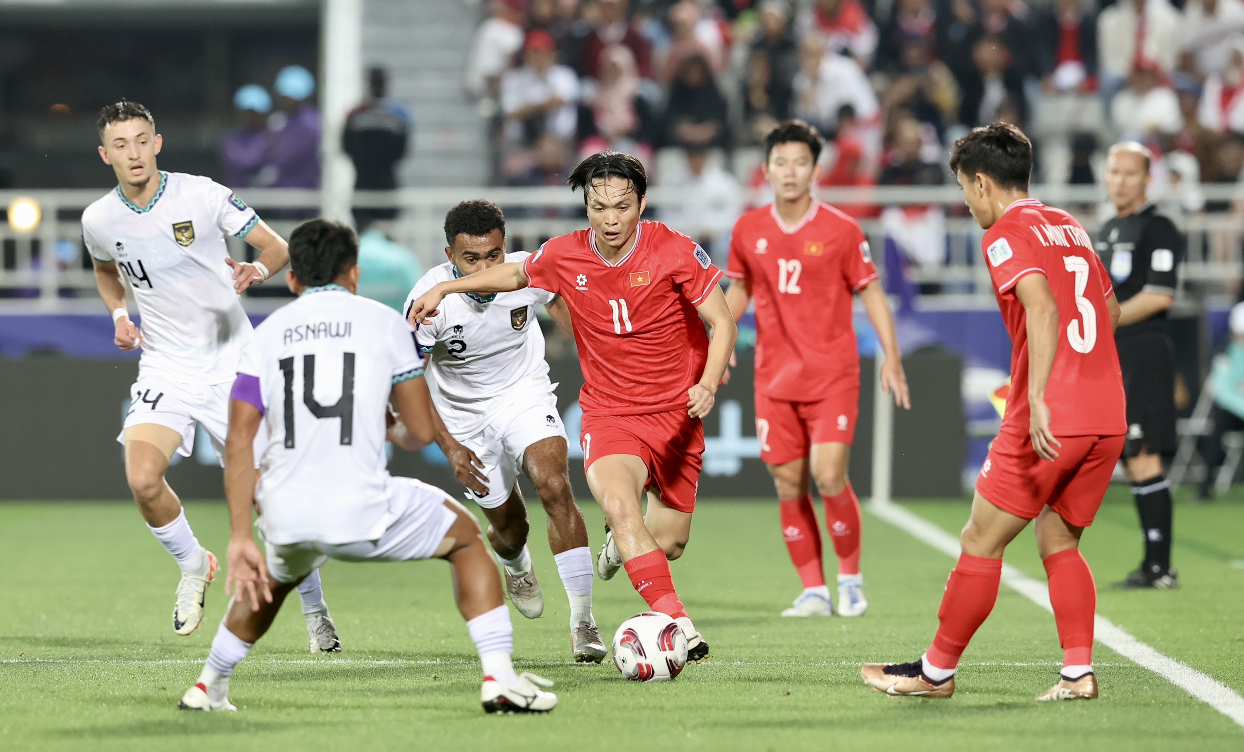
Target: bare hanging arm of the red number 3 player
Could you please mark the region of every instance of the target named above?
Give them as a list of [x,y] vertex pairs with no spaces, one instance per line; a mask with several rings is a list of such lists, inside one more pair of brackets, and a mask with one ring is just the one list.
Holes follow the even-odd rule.
[[1015,296],[1028,318],[1028,405],[1031,410],[1029,435],[1033,449],[1042,460],[1059,456],[1062,444],[1050,430],[1050,408],[1045,405],[1045,387],[1050,383],[1054,355],[1059,349],[1059,303],[1054,300],[1045,275],[1026,275],[1015,285]]

